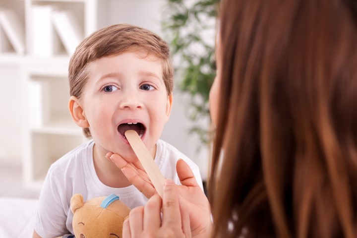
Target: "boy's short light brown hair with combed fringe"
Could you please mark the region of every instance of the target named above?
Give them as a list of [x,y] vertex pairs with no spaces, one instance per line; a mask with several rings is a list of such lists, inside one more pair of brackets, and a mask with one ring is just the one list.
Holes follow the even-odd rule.
[[[174,68],[168,44],[147,29],[116,24],[94,32],[77,46],[68,67],[70,95],[82,97],[88,80],[88,63],[124,52],[143,52],[158,57],[162,61],[166,91],[168,95],[172,93]],[[86,137],[91,137],[89,128],[83,128],[83,132]]]

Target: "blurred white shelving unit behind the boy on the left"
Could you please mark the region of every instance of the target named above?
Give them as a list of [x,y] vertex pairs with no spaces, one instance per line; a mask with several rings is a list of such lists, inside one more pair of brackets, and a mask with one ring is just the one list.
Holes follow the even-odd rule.
[[[24,185],[29,189],[40,189],[50,165],[85,141],[81,128],[68,112],[67,70],[72,52],[68,52],[65,43],[76,46],[85,36],[109,25],[105,14],[109,7],[109,0],[0,2],[0,65],[12,64],[19,68],[24,106],[28,109],[24,112],[22,163]],[[11,12],[20,23],[20,27],[12,23],[7,27],[19,33],[17,40],[23,42],[24,53],[16,50],[14,36],[1,26],[1,12]],[[71,23],[62,29],[77,26],[72,31],[81,32],[76,35],[77,41],[70,42],[75,39],[74,35],[60,33],[59,28],[55,28],[54,15],[59,12],[70,14],[71,18],[67,19]],[[58,25],[64,23],[62,18]],[[67,37],[67,42],[63,37]]]

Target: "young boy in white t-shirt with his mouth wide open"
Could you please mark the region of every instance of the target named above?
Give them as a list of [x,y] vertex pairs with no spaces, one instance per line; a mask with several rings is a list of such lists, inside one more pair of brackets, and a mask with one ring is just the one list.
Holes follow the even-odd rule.
[[69,111],[92,138],[56,161],[43,184],[34,237],[73,234],[70,198],[84,201],[111,193],[130,208],[147,198],[105,156],[108,152],[137,161],[124,137],[134,129],[166,178],[179,183],[178,159],[191,167],[202,187],[199,169],[172,145],[160,140],[173,100],[173,66],[168,45],[154,33],[119,24],[82,41],[69,62]]

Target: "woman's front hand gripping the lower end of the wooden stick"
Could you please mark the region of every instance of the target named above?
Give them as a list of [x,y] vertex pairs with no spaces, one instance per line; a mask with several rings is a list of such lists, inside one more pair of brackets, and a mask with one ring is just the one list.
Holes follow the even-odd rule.
[[162,200],[155,194],[145,206],[133,208],[123,224],[122,235],[123,238],[190,238],[188,213],[180,209],[177,185],[167,179]]

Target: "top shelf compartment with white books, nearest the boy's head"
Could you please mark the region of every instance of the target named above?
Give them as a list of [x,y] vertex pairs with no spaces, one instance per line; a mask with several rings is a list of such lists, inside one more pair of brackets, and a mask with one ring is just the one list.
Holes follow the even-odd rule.
[[72,55],[84,38],[85,4],[34,0],[30,8],[31,55],[44,58]]

